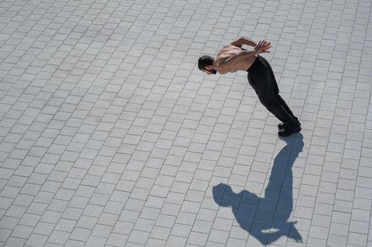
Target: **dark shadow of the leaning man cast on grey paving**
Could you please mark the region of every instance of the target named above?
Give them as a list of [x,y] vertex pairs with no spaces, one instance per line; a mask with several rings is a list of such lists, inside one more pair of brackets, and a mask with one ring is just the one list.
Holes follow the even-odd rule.
[[286,142],[274,159],[265,197],[259,198],[250,191],[234,193],[231,186],[220,183],[213,187],[214,200],[221,207],[232,207],[240,227],[263,245],[288,236],[296,242],[301,241],[294,224],[288,222],[293,210],[293,162],[303,149],[303,135],[295,138],[281,138]]

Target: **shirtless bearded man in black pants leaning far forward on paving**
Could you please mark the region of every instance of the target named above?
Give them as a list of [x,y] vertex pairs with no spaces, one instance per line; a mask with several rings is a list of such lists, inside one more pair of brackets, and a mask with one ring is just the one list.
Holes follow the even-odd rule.
[[[243,44],[255,48],[248,51],[242,48]],[[271,43],[266,40],[256,44],[247,37],[240,37],[239,40],[223,46],[216,59],[207,55],[201,56],[198,66],[199,70],[209,75],[217,72],[225,74],[248,71],[248,82],[260,102],[282,122],[278,124],[278,135],[284,137],[301,131],[301,123],[279,95],[277,80],[269,62],[259,55],[269,52],[271,47]]]

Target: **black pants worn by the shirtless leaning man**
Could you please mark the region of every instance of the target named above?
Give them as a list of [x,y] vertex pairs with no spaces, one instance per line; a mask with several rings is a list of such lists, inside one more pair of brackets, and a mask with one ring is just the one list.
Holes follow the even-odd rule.
[[272,67],[262,56],[258,56],[248,69],[248,81],[260,102],[283,123],[293,123],[294,115],[279,95],[277,80]]

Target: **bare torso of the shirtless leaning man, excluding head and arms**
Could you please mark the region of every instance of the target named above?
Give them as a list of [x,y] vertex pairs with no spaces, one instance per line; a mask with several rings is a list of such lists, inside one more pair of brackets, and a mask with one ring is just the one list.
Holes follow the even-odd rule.
[[223,68],[223,62],[230,59],[233,56],[238,55],[242,52],[240,47],[236,47],[233,44],[226,44],[222,47],[222,49],[218,52],[215,60],[216,71],[219,73],[234,73],[236,71],[247,71],[250,66],[252,66],[253,62],[256,59],[256,56],[249,56],[249,57],[242,57],[242,59],[238,59],[228,70]]

